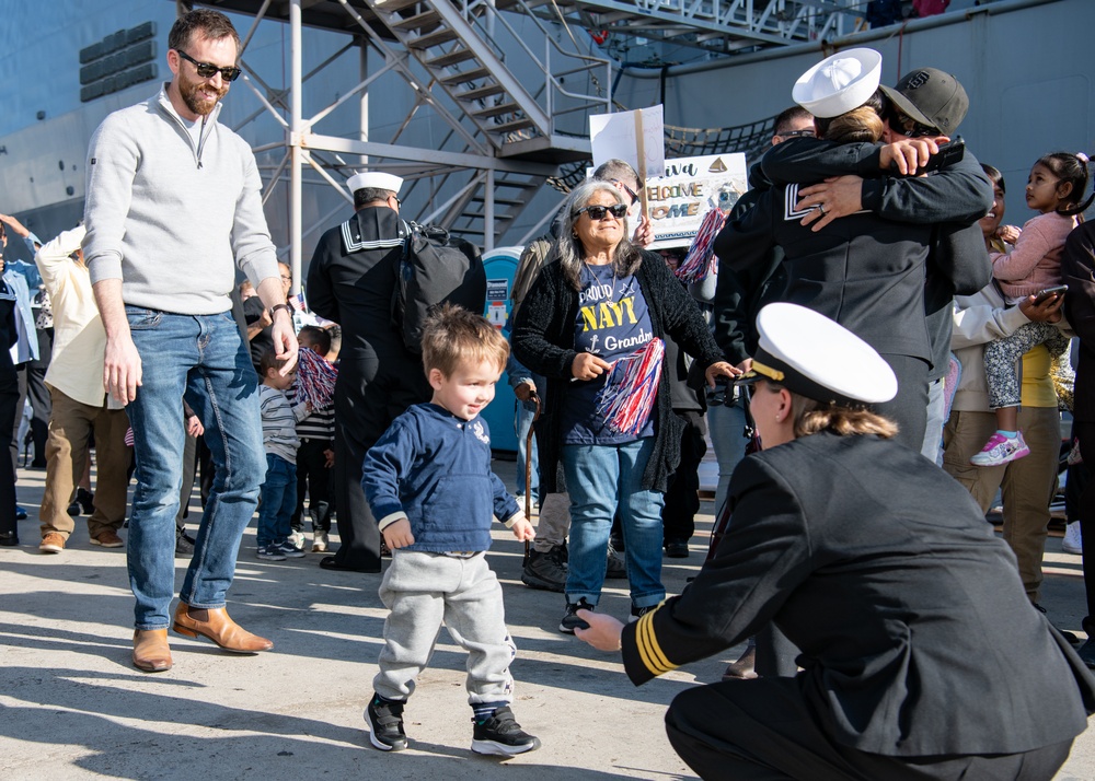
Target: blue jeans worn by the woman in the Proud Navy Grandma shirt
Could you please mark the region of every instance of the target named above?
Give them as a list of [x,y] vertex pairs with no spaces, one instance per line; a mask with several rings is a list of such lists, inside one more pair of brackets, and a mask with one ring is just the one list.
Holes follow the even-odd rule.
[[643,488],[643,473],[654,438],[623,445],[563,445],[563,470],[570,493],[569,568],[566,601],[585,597],[596,605],[604,584],[612,517],[620,510],[634,607],[666,598],[661,585],[661,508],[659,491]]

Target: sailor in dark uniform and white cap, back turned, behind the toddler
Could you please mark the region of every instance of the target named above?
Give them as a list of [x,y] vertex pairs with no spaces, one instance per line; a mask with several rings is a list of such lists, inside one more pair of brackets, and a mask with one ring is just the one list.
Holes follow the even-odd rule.
[[[308,269],[308,300],[342,326],[335,384],[337,553],[324,569],[380,572],[380,531],[361,490],[366,452],[411,405],[429,400],[422,362],[392,327],[392,293],[403,240],[399,191],[391,174],[357,174],[347,183],[357,211],[320,238]],[[359,202],[359,194],[370,199]],[[380,196],[380,197],[372,197]]]

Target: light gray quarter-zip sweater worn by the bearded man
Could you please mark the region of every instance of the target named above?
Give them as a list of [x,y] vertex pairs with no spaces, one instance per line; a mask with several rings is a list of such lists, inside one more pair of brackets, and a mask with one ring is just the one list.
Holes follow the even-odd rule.
[[256,288],[278,276],[255,156],[219,114],[217,104],[195,144],[163,85],[95,130],[83,240],[92,284],[120,279],[128,305],[209,315],[231,308],[237,266]]

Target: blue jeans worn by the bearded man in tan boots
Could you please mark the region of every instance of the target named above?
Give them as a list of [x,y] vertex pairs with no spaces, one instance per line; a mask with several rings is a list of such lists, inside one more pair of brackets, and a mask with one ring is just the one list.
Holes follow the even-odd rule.
[[265,474],[258,375],[231,313],[177,315],[126,307],[141,355],[134,429],[137,490],[129,521],[129,584],[137,629],[164,629],[175,592],[175,513],[183,474],[183,395],[205,427],[216,467],[180,599],[224,606],[243,529]]

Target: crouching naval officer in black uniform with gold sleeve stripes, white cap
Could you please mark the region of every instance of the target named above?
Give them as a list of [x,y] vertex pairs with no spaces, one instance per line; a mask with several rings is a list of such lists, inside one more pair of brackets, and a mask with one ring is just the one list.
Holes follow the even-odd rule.
[[705,779],[1050,779],[1095,710],[1095,679],[1034,609],[968,492],[889,436],[866,342],[794,304],[758,316],[733,522],[680,596],[623,627],[579,613],[644,684],[772,622],[795,677],[679,695],[670,742]]

